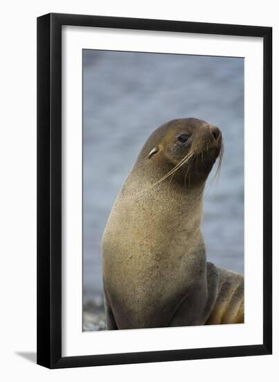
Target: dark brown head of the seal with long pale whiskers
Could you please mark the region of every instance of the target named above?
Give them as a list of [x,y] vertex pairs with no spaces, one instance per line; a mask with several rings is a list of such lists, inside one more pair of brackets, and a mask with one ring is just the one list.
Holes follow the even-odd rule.
[[206,181],[215,160],[222,160],[222,133],[196,118],[173,119],[152,133],[141,156],[156,165],[163,165],[170,175],[195,185]]

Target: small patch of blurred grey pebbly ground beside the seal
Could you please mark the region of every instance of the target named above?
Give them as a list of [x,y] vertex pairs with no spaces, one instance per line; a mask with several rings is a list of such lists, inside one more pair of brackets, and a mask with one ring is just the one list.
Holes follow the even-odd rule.
[[105,306],[101,296],[96,296],[83,304],[83,331],[103,331],[105,324]]

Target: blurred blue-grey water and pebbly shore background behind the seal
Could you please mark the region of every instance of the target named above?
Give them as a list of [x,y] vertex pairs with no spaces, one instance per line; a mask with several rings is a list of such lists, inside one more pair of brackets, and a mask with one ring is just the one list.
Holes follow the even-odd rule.
[[[244,60],[83,51],[84,331],[105,328],[100,241],[116,194],[154,129],[197,117],[219,126],[224,160],[207,182],[208,260],[244,272]],[[216,166],[216,165],[215,165]]]

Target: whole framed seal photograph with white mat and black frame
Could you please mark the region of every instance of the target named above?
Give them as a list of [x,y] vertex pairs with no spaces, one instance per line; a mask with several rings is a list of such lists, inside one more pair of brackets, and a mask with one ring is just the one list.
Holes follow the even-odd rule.
[[272,29],[37,19],[37,363],[271,354]]

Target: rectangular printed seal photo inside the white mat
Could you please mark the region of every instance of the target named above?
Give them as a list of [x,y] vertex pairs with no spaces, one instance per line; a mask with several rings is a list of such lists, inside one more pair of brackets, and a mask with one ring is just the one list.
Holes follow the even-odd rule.
[[244,59],[82,54],[83,330],[243,322]]

